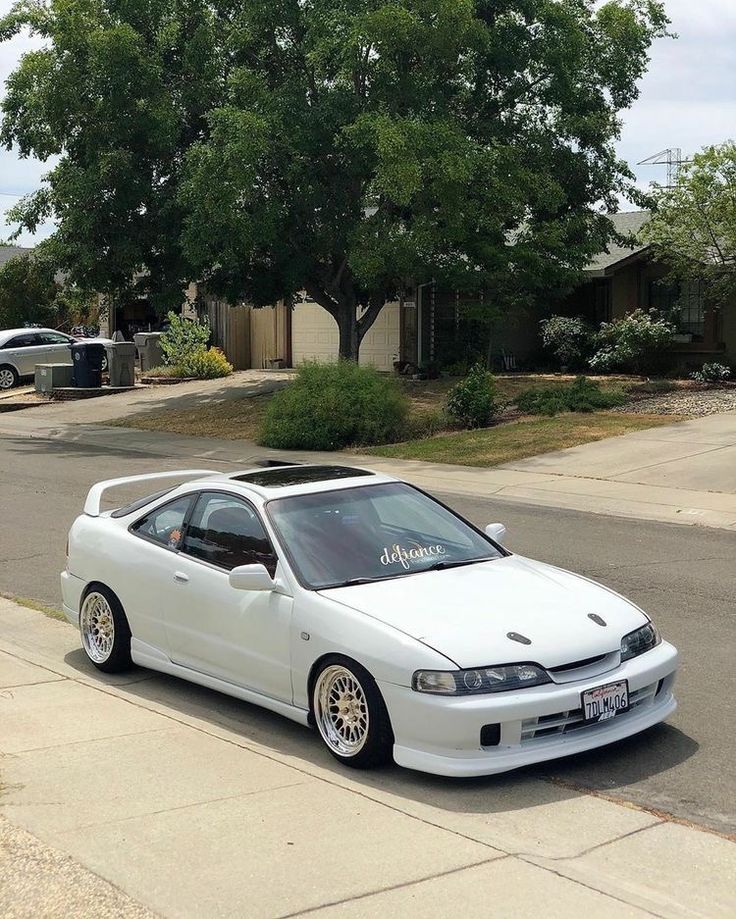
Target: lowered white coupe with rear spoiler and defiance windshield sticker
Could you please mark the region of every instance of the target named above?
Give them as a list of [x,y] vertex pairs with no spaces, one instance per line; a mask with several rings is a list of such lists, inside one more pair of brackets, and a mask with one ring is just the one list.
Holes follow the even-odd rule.
[[[192,478],[102,511],[108,488]],[[64,611],[131,663],[316,725],[349,766],[487,775],[628,737],[676,707],[637,606],[514,555],[405,482],[273,465],[114,479],[69,533]]]

